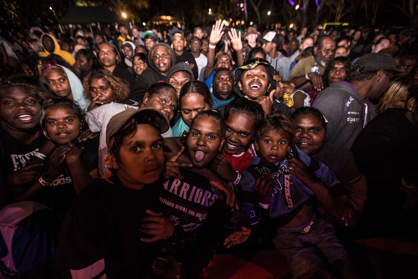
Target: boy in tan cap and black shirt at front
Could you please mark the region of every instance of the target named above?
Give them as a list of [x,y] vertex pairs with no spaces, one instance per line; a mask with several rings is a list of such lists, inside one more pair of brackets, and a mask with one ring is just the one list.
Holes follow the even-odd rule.
[[160,134],[169,127],[150,108],[109,121],[112,171],[80,193],[64,220],[57,253],[63,278],[145,278],[158,257],[156,241],[174,232],[155,183],[164,164]]

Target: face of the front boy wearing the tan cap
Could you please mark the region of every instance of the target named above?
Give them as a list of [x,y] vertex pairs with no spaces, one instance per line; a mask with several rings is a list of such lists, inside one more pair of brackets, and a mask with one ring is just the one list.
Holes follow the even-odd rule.
[[139,124],[135,134],[125,138],[119,158],[116,162],[109,154],[111,166],[125,187],[140,190],[157,181],[164,164],[160,133],[151,125]]

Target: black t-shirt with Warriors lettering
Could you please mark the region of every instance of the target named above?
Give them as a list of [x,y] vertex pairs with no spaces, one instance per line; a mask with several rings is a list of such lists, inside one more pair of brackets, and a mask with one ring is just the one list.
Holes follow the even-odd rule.
[[183,179],[161,179],[162,213],[174,222],[167,250],[182,263],[182,278],[197,278],[223,240],[230,208],[211,189],[209,181],[187,170]]

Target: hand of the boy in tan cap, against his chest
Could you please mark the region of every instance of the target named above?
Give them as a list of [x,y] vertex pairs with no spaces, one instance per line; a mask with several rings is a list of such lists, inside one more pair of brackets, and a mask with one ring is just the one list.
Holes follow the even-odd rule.
[[142,237],[141,241],[150,243],[161,239],[167,239],[174,233],[174,224],[162,213],[145,210],[147,216],[142,219],[141,232],[154,235],[151,238]]

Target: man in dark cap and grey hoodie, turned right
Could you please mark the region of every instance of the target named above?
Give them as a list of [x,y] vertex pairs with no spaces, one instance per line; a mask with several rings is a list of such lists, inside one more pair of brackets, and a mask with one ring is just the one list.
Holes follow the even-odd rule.
[[313,106],[325,116],[326,142],[350,149],[354,139],[376,115],[370,99],[379,99],[389,87],[395,68],[387,53],[370,53],[352,66],[346,81],[334,82],[320,92]]

